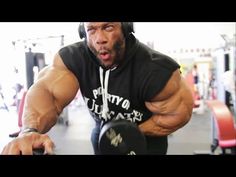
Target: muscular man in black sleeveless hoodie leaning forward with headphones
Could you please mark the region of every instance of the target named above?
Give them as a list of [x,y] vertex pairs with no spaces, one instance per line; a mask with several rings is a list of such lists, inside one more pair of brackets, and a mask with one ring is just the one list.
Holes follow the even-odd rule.
[[128,22],[81,23],[79,33],[85,40],[60,49],[52,65],[40,72],[26,96],[23,130],[2,154],[32,154],[40,147],[53,153],[45,133],[78,89],[96,121],[91,136],[95,154],[100,129],[111,119],[137,124],[148,154],[166,154],[167,136],[191,118],[192,94],[179,65],[132,32],[133,23]]

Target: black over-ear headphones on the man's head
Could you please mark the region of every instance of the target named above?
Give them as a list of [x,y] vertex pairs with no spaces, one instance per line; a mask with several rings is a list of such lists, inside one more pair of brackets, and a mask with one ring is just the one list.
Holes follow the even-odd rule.
[[[129,34],[134,33],[134,24],[133,22],[121,22],[122,25],[122,30],[124,33],[124,36],[127,37],[129,36]],[[86,32],[85,32],[85,28],[84,28],[84,23],[81,22],[79,24],[79,37],[80,39],[86,38]]]

